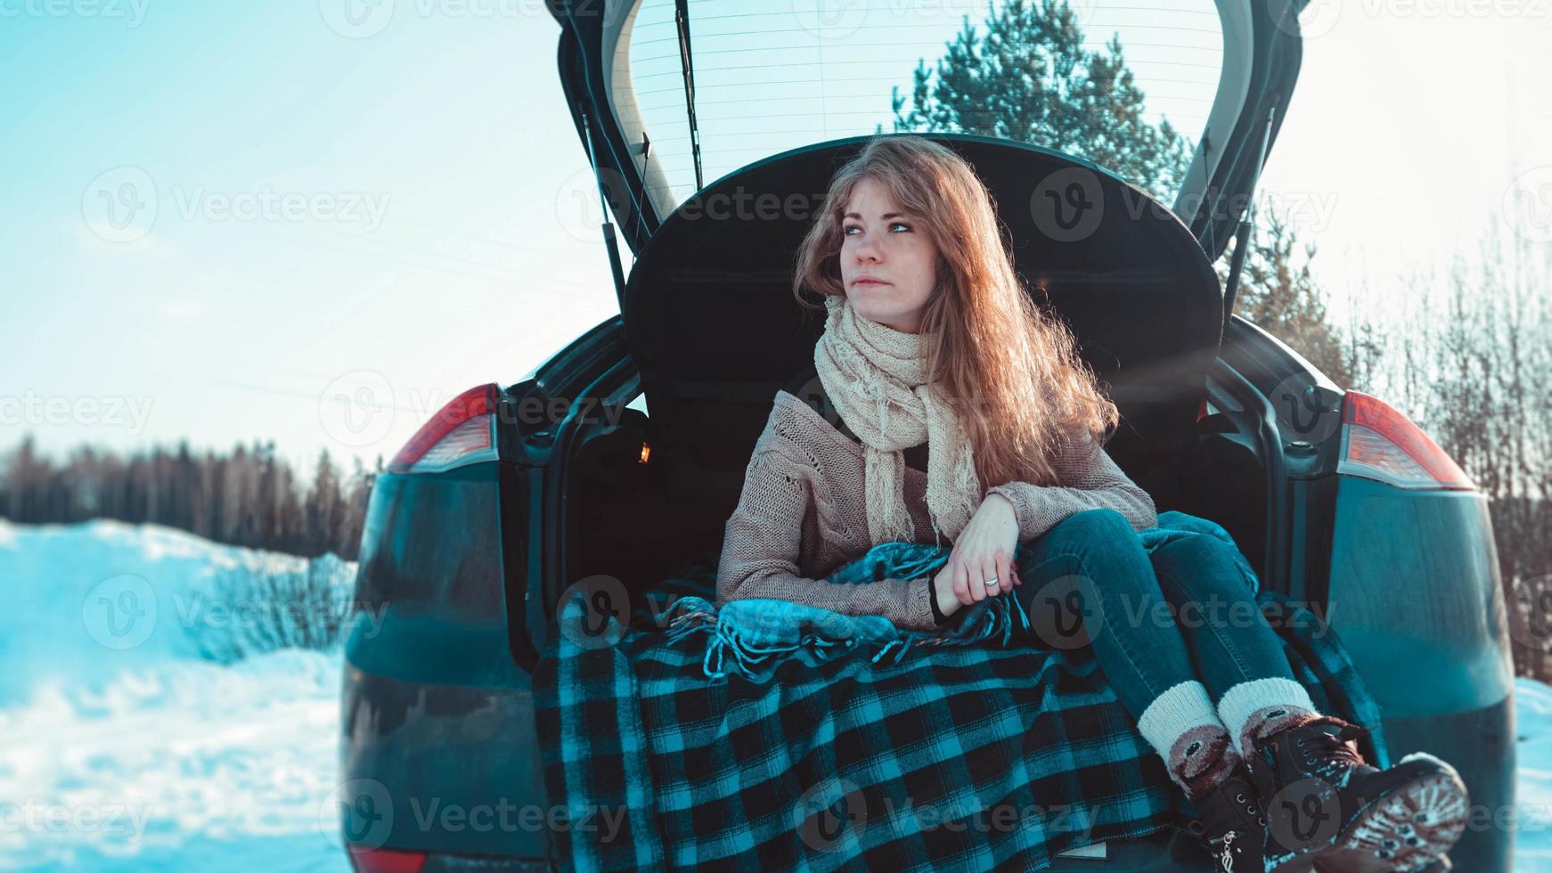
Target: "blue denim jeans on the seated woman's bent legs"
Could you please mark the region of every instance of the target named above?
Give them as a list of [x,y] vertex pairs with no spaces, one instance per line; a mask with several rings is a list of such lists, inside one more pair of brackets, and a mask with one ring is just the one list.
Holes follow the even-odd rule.
[[1023,585],[1012,594],[1035,645],[1091,645],[1121,704],[1141,718],[1189,679],[1217,702],[1238,682],[1294,678],[1237,554],[1218,537],[1184,530],[1150,552],[1124,515],[1090,509],[1018,544]]

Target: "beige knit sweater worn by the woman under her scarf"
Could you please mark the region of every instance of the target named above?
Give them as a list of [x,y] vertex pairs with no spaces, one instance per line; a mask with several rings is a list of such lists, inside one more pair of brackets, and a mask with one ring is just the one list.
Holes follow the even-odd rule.
[[[1153,499],[1093,439],[1082,447],[1069,445],[1057,459],[1055,473],[1062,485],[1007,482],[987,490],[1013,501],[1020,543],[1096,507],[1119,510],[1136,530],[1158,524]],[[743,493],[723,532],[717,605],[776,597],[849,616],[883,616],[906,630],[934,630],[927,577],[826,581],[871,546],[861,495],[863,447],[804,400],[778,391],[750,456]],[[905,502],[914,541],[933,543],[927,473],[909,465]]]

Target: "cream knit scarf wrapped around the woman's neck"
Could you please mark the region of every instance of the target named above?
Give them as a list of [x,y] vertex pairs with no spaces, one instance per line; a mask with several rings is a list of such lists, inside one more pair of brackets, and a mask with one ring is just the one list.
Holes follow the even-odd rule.
[[970,440],[953,409],[927,385],[920,338],[855,313],[843,295],[826,295],[829,316],[813,364],[841,419],[861,437],[868,533],[874,546],[911,541],[903,450],[927,440],[927,509],[942,543],[956,540],[976,507],[981,484]]

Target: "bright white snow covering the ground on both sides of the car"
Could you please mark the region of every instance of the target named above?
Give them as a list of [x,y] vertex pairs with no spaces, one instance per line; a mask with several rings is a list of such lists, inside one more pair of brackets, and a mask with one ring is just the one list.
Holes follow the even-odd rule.
[[[0,519],[0,867],[346,870],[318,625],[354,577],[158,526]],[[1515,868],[1552,870],[1552,688],[1516,695]]]

